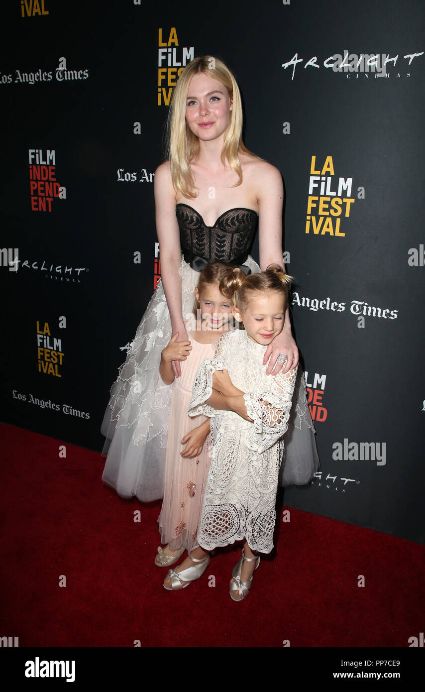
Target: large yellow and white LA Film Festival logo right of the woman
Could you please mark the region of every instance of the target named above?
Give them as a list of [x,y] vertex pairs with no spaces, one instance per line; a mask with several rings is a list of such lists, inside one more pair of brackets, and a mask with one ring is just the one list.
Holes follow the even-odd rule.
[[[355,202],[354,197],[351,197],[353,179],[339,176],[337,182],[334,175],[332,156],[327,156],[321,167],[316,163],[316,156],[311,156],[305,221],[307,234],[345,237],[341,217],[350,218]],[[358,188],[357,196],[364,199],[364,188]]]

